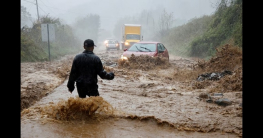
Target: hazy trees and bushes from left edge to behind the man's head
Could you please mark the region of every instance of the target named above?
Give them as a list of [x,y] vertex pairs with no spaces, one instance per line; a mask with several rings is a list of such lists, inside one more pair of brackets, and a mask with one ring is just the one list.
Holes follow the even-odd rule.
[[[88,36],[96,41],[98,37],[98,15],[87,15],[76,20],[72,26],[47,15],[34,21],[31,27],[28,26],[31,15],[21,6],[21,17],[21,62],[49,61],[49,56],[52,61],[65,55],[76,54],[83,51],[83,39]],[[54,41],[42,41],[41,24],[54,25]]]

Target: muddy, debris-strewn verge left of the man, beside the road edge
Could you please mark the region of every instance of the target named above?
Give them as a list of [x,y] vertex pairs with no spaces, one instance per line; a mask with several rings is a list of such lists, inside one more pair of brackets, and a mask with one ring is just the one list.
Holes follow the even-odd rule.
[[21,111],[66,80],[73,58],[66,56],[52,62],[21,63]]

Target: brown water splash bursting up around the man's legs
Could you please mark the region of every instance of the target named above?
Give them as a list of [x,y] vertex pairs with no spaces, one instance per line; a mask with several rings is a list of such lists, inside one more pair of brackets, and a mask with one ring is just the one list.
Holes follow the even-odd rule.
[[48,115],[57,120],[79,120],[99,114],[113,114],[113,107],[102,97],[73,98],[60,101],[55,105],[44,106],[40,109],[42,115]]

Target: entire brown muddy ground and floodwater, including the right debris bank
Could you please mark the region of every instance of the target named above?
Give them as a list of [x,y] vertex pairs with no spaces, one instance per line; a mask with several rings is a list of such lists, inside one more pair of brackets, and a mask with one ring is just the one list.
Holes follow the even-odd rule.
[[[100,97],[86,99],[66,88],[74,56],[21,63],[21,136],[242,137],[242,51],[229,45],[222,49],[227,54],[217,54],[213,62],[170,55],[169,63],[138,64],[135,58],[123,66],[121,50],[97,48],[94,52],[115,79],[99,78]],[[233,74],[197,80],[200,74],[226,69]],[[214,102],[220,98],[230,104]]]

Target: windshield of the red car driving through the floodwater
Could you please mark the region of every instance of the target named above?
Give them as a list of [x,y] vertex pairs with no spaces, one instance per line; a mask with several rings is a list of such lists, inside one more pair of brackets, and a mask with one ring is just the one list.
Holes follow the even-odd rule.
[[152,44],[152,43],[135,43],[127,51],[154,52],[154,51],[156,51],[156,44]]

